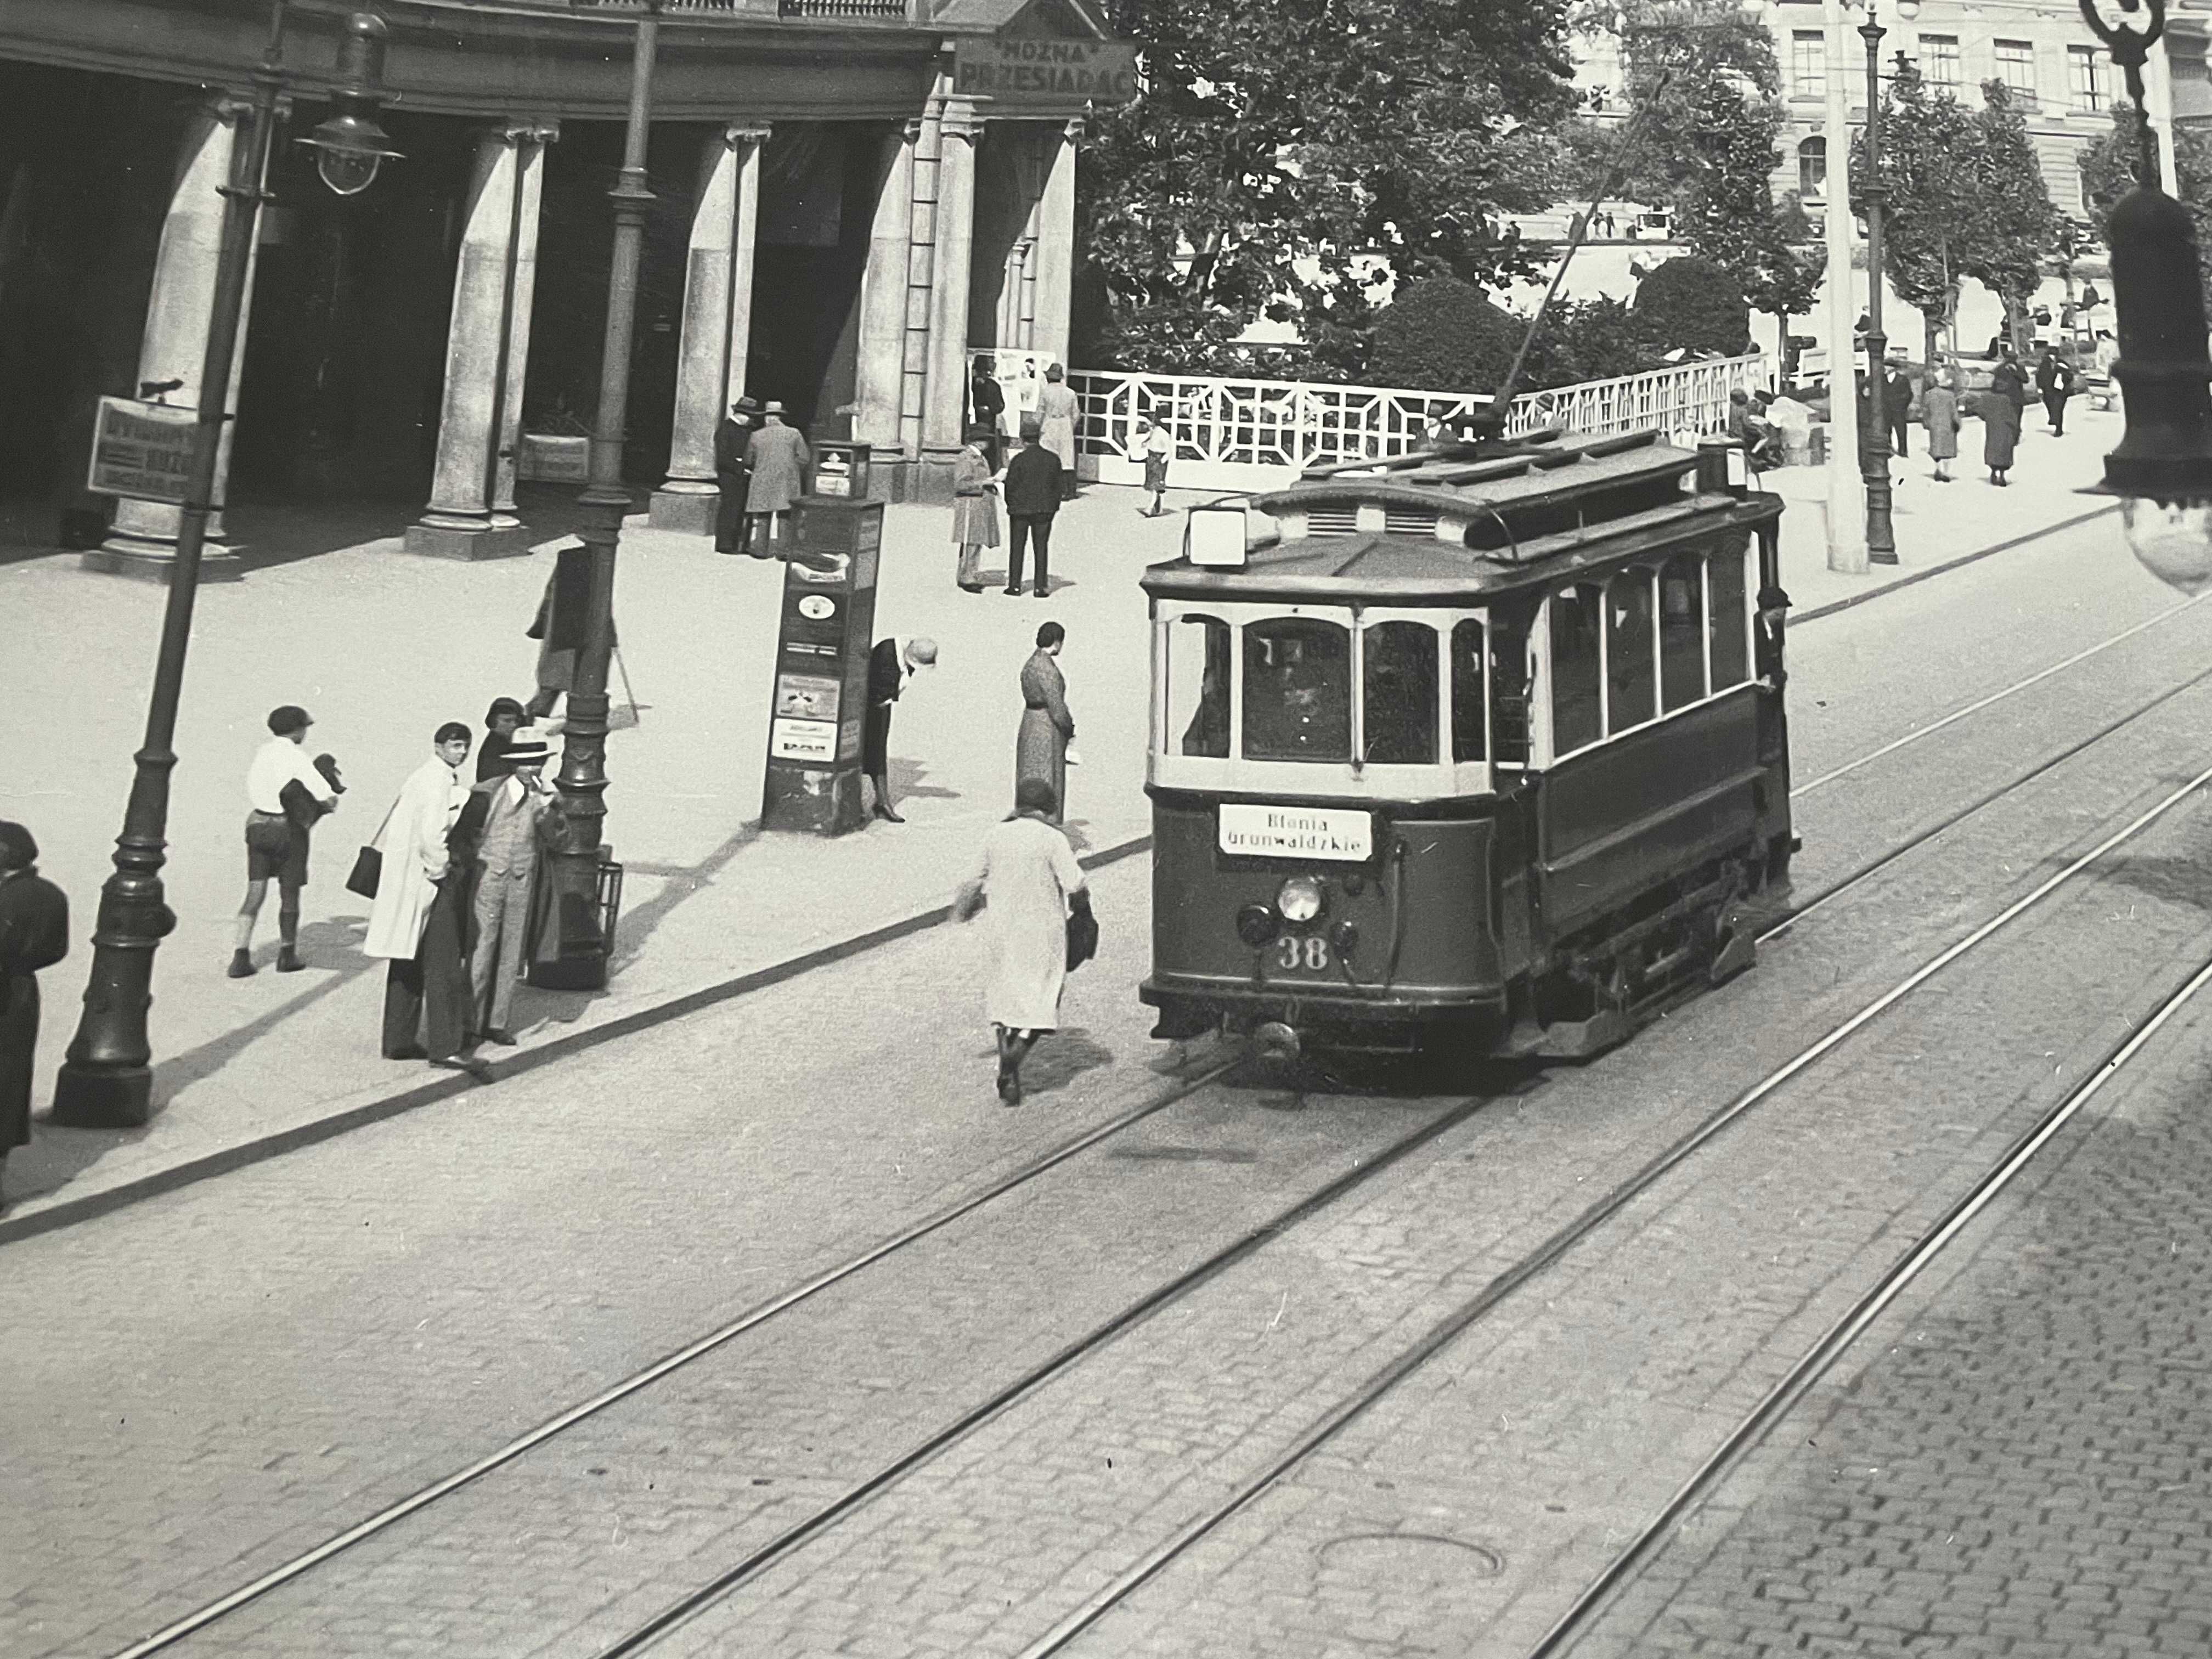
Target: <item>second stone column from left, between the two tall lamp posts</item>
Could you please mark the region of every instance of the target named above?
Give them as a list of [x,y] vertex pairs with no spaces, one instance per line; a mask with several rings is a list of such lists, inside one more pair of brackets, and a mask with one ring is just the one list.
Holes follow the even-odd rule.
[[551,137],[551,128],[502,124],[476,142],[453,268],[438,460],[429,507],[407,526],[409,553],[493,560],[531,551],[531,533],[515,518],[513,480]]

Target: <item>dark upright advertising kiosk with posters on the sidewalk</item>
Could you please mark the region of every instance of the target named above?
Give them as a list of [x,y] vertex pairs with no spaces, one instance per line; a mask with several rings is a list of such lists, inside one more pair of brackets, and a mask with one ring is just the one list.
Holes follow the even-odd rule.
[[841,836],[867,823],[860,726],[876,628],[883,502],[801,495],[783,566],[763,830]]

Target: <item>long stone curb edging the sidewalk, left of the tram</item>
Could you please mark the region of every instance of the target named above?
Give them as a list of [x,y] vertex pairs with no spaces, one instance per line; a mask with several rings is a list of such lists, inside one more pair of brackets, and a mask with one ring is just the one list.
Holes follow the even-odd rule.
[[[1133,836],[1130,841],[1117,841],[1110,847],[1084,854],[1077,863],[1084,869],[1104,869],[1106,865],[1133,858],[1139,852],[1152,847],[1152,836]],[[491,1082],[504,1084],[511,1077],[520,1077],[529,1071],[538,1071],[553,1060],[568,1060],[586,1048],[597,1048],[602,1042],[613,1042],[615,1037],[628,1037],[637,1031],[650,1031],[668,1020],[681,1020],[686,1013],[697,1013],[699,1009],[710,1009],[717,1002],[730,1002],[734,998],[748,995],[752,991],[765,991],[772,984],[783,984],[785,980],[796,980],[801,973],[812,973],[814,969],[843,962],[852,956],[863,956],[883,945],[909,938],[914,933],[925,933],[940,922],[951,920],[951,905],[933,905],[931,909],[902,916],[896,922],[885,922],[865,933],[854,933],[852,938],[836,940],[832,945],[821,945],[812,951],[801,951],[799,956],[785,958],[783,962],[770,962],[763,969],[752,969],[750,973],[739,973],[734,980],[723,980],[721,984],[708,984],[699,991],[686,991],[670,998],[668,1002],[657,1002],[648,1009],[633,1009],[606,1024],[591,1026],[588,1031],[573,1031],[562,1037],[553,1037],[526,1053],[511,1055],[507,1060],[491,1062]],[[400,1117],[418,1106],[434,1106],[440,1099],[451,1099],[471,1088],[482,1088],[467,1073],[456,1073],[451,1077],[436,1077],[427,1084],[416,1084],[414,1088],[403,1088],[396,1095],[385,1095],[383,1099],[372,1099],[361,1106],[347,1106],[332,1113],[330,1117],[319,1117],[312,1124],[292,1124],[290,1128],[261,1135],[259,1139],[239,1141],[237,1146],[226,1146],[215,1152],[204,1152],[201,1157],[186,1159],[166,1170],[148,1170],[142,1177],[122,1181],[117,1186],[104,1188],[102,1192],[86,1192],[80,1199],[62,1199],[35,1210],[24,1217],[0,1217],[0,1245],[13,1243],[15,1239],[35,1239],[42,1232],[58,1232],[60,1228],[75,1225],[80,1221],[91,1221],[93,1217],[108,1214],[113,1210],[124,1210],[142,1199],[153,1199],[164,1192],[175,1192],[197,1181],[206,1181],[217,1175],[230,1175],[232,1170],[243,1170],[250,1164],[261,1164],[285,1152],[296,1152],[303,1146],[314,1146],[319,1141],[336,1139],[356,1128],[367,1128],[369,1124],[383,1124],[389,1117]]]

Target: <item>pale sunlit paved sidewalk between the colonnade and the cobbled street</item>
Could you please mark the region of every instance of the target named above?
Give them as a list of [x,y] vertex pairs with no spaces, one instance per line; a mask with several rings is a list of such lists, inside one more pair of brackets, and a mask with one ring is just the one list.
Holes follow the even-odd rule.
[[[1770,473],[1792,500],[1785,582],[1798,613],[1849,604],[1942,564],[2077,518],[2097,502],[2068,493],[2095,478],[2117,416],[2024,442],[2020,487],[1938,489],[1927,462],[1898,491],[1902,562],[1865,577],[1825,568],[1818,473]],[[1969,440],[1978,436],[1969,427]],[[891,787],[907,825],[823,841],[759,832],[770,653],[781,564],[717,557],[703,538],[624,535],[615,608],[639,697],[608,739],[608,841],[626,865],[613,984],[604,993],[518,998],[522,1046],[491,1051],[500,1075],[577,1044],[730,995],[754,975],[799,971],[814,953],[911,929],[947,902],[982,832],[1013,792],[1015,677],[1037,622],[1068,626],[1062,664],[1079,726],[1073,823],[1095,854],[1150,830],[1144,779],[1146,622],[1137,577],[1170,557],[1181,518],[1148,520],[1135,489],[1093,487],[1060,518],[1055,597],[971,597],[951,586],[949,513],[891,507],[876,630],[927,633],[940,668],[900,703]],[[1170,491],[1170,504],[1201,500]],[[533,522],[560,526],[566,502]],[[378,964],[361,956],[367,905],[343,889],[354,847],[445,719],[478,726],[495,695],[526,695],[522,637],[546,577],[533,557],[447,564],[363,538],[367,513],[327,522],[296,509],[237,513],[252,549],[246,582],[199,595],[177,730],[170,865],[177,931],[155,967],[157,1115],[131,1133],[35,1124],[7,1161],[11,1208],[0,1239],[55,1225],[148,1190],[338,1133],[471,1084],[376,1053]],[[2117,533],[2117,529],[2115,529]],[[1002,560],[993,562],[1002,568]],[[73,555],[0,564],[0,816],[38,834],[44,872],[73,902],[71,958],[44,975],[38,1055],[44,1113],[91,964],[91,922],[144,728],[161,591],[84,573]],[[316,832],[303,905],[310,971],[276,975],[274,902],[263,909],[250,980],[223,978],[243,887],[243,770],[274,703],[305,703],[314,750],[332,750],[349,794]],[[823,1020],[836,1020],[834,1009]]]

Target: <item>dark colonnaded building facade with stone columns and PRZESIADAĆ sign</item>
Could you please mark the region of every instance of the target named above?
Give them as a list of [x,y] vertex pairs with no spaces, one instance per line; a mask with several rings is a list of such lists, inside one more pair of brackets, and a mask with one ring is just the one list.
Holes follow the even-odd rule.
[[[338,197],[294,139],[352,7],[292,0],[223,493],[405,502],[407,546],[533,538],[526,434],[588,429],[608,188],[641,0],[383,0],[405,159]],[[1066,356],[1086,0],[659,0],[626,476],[714,511],[741,394],[936,495],[971,347]],[[192,405],[268,0],[0,0],[0,507],[86,509],[104,394]],[[1000,53],[1042,73],[962,73]],[[122,502],[88,562],[161,573],[177,511]],[[234,555],[230,555],[234,564]],[[208,573],[226,546],[210,540]]]

